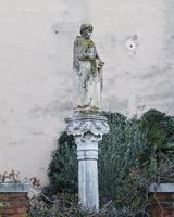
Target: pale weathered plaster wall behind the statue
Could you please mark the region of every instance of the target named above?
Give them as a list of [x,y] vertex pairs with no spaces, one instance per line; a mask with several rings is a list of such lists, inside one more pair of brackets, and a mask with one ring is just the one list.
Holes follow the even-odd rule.
[[173,20],[173,0],[0,0],[0,171],[46,180],[84,22],[105,62],[103,108],[174,114]]

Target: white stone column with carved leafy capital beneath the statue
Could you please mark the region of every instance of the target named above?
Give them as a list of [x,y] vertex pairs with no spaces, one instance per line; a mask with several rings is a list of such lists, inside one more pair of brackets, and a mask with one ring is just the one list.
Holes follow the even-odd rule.
[[66,119],[66,132],[77,144],[79,205],[84,210],[98,212],[98,142],[109,132],[107,118],[79,114]]

